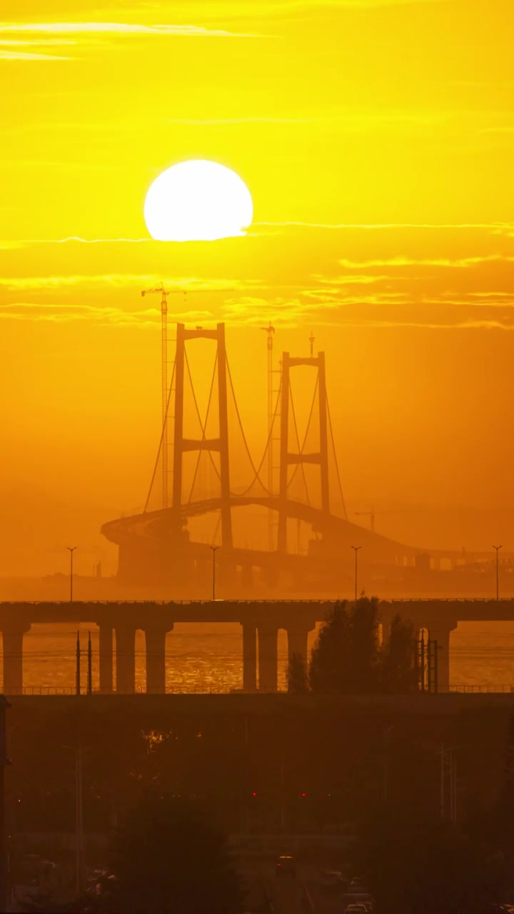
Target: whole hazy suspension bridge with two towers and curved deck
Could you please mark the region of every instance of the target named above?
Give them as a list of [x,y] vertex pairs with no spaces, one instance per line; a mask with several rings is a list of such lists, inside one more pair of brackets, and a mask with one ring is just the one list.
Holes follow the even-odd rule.
[[[164,290],[163,296],[165,314]],[[273,328],[262,329],[268,332],[270,356]],[[176,331],[169,385],[163,349],[163,422],[145,508],[102,526],[103,535],[119,547],[120,582],[173,585],[177,593],[180,589],[205,590],[213,546],[220,547],[216,562],[224,595],[241,593],[241,589],[247,595],[261,587],[301,590],[309,582],[318,589],[321,582],[326,590],[339,589],[341,576],[344,579],[346,573],[352,579],[350,546],[356,542],[366,547],[367,562],[374,566],[413,562],[419,549],[348,521],[327,395],[325,354],[315,354],[314,337],[309,356],[284,352],[280,371],[273,371],[273,358],[269,357],[268,435],[259,459],[254,460],[230,371],[225,325],[193,329],[177,324]],[[186,345],[198,340],[214,345],[204,411]],[[300,403],[294,396],[293,377],[302,369],[312,379],[312,395],[306,403],[304,394]],[[305,383],[304,378],[302,392]],[[305,410],[305,406],[309,408]],[[303,427],[300,413],[306,417]],[[234,453],[236,438],[239,446]],[[235,457],[241,476],[241,455],[248,479],[236,486],[232,484],[232,464]],[[214,492],[201,491],[206,476]],[[332,503],[337,504],[337,511]],[[267,543],[264,536],[261,543],[248,546],[235,536],[235,512],[249,507],[261,511],[264,519],[267,514]],[[205,528],[204,535],[195,538],[190,522],[208,515],[215,518],[214,529],[207,540]],[[248,526],[254,526],[252,521]]]

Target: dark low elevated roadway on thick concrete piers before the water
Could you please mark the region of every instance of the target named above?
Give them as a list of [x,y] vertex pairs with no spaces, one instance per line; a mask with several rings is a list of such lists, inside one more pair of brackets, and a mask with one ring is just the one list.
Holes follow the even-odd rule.
[[[32,624],[90,622],[100,635],[100,691],[113,691],[115,632],[116,691],[135,686],[135,632],[145,632],[146,691],[166,692],[166,633],[175,622],[239,622],[242,630],[243,691],[276,692],[277,632],[287,632],[289,658],[306,661],[307,636],[336,600],[148,600],[95,602],[0,602],[4,654],[4,693],[23,690],[23,637]],[[449,689],[450,632],[458,622],[514,622],[514,600],[381,600],[382,638],[399,613],[416,629],[427,629],[438,646],[438,685]]]

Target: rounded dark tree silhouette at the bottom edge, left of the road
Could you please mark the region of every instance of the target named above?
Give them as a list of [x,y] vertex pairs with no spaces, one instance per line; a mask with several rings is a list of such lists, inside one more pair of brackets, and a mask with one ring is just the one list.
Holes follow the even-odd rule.
[[149,792],[112,840],[119,914],[239,914],[242,894],[223,835],[179,798]]

